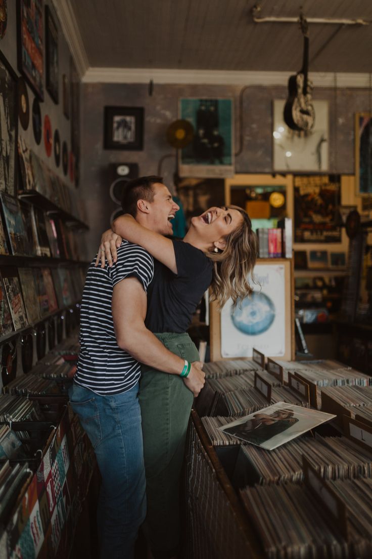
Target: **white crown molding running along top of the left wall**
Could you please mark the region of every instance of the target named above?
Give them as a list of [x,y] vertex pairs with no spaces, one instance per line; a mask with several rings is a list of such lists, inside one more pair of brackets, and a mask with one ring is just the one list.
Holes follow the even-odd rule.
[[59,18],[67,45],[69,45],[71,55],[74,58],[76,70],[78,70],[81,77],[89,68],[89,61],[73,8],[71,8],[71,0],[52,0],[52,3]]

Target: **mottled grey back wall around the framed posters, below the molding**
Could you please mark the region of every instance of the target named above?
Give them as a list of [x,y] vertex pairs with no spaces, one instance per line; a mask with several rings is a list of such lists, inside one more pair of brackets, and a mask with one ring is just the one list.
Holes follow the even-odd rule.
[[[166,142],[167,126],[177,119],[179,97],[232,97],[235,104],[235,147],[239,136],[239,93],[236,86],[154,85],[152,97],[146,84],[83,84],[83,159],[80,192],[86,197],[91,231],[86,248],[89,258],[98,248],[100,232],[108,227],[115,205],[109,198],[109,163],[139,164],[140,174],[156,174],[158,162],[175,153]],[[330,172],[354,173],[354,113],[370,109],[366,89],[317,88],[315,100],[328,100],[330,117]],[[272,100],[284,99],[284,87],[250,87],[243,94],[243,151],[235,160],[236,173],[272,173]],[[144,107],[143,151],[103,149],[104,106]],[[166,184],[172,186],[175,159],[162,165]]]

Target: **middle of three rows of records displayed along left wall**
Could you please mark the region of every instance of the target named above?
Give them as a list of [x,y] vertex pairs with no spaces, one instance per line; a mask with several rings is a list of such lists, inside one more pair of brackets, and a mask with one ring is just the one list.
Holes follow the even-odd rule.
[[0,255],[79,260],[76,231],[61,217],[0,192]]

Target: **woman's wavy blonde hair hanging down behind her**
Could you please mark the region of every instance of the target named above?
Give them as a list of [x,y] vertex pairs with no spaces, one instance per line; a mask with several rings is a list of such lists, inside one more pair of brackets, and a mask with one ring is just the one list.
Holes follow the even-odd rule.
[[225,237],[224,250],[207,254],[213,260],[211,300],[217,301],[220,308],[230,297],[235,306],[238,300],[252,293],[249,280],[255,283],[253,268],[258,253],[257,235],[252,230],[247,212],[237,206],[229,208],[238,210],[243,216],[243,222]]

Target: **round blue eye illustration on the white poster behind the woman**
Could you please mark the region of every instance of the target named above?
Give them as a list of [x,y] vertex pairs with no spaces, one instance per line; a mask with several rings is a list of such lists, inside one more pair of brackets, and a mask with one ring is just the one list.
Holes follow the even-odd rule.
[[258,335],[273,324],[276,309],[273,301],[264,293],[252,293],[231,309],[231,320],[243,334]]

